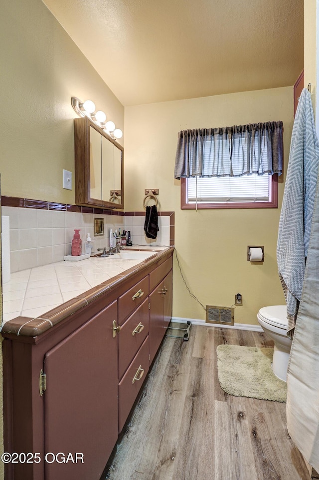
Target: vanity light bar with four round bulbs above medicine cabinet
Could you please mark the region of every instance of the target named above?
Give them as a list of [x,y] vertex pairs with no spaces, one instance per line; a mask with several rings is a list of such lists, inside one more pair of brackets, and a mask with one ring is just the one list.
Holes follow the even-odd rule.
[[98,110],[95,112],[95,103],[92,100],[86,100],[85,102],[81,102],[76,97],[71,98],[71,105],[74,111],[80,116],[84,117],[87,116],[92,120],[96,125],[106,131],[110,137],[113,139],[122,138],[123,132],[120,128],[115,128],[115,123],[111,120],[106,120],[106,114],[102,110]]

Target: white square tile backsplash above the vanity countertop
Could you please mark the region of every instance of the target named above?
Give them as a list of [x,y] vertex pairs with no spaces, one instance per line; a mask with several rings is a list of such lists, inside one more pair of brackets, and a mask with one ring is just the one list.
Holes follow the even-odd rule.
[[[36,208],[2,207],[2,215],[10,217],[11,273],[48,265],[71,254],[74,229],[80,229],[82,252],[89,233],[98,248],[109,248],[109,229],[131,231],[133,245],[169,246],[169,215],[159,216],[158,236],[147,238],[144,232],[145,215],[102,215],[96,213],[65,212]],[[104,235],[94,237],[94,217],[104,219]],[[92,280],[94,283],[94,281]]]

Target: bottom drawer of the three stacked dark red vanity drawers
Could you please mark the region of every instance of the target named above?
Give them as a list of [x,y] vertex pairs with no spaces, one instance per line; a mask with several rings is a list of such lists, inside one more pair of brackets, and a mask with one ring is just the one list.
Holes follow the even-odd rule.
[[[148,371],[149,337],[144,340],[142,347],[119,383],[119,433],[125,425]],[[137,380],[134,380],[136,378]]]

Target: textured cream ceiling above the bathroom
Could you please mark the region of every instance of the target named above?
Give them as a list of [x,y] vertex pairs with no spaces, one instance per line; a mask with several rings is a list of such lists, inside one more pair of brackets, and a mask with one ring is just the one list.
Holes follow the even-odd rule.
[[43,0],[123,105],[293,85],[302,0]]

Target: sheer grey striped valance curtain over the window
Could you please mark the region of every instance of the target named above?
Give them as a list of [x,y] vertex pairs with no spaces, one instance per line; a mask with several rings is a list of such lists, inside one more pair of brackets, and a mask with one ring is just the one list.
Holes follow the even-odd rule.
[[236,177],[283,171],[283,122],[178,133],[174,178]]

